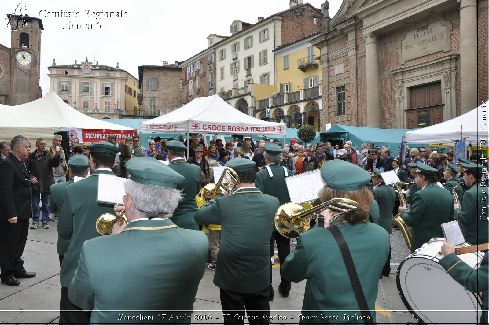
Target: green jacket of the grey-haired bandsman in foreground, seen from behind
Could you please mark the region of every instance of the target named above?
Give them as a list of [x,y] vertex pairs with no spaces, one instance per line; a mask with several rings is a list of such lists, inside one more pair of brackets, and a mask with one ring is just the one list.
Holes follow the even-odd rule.
[[[131,222],[121,233],[83,244],[69,300],[93,309],[91,324],[139,323],[121,314],[155,315],[148,320],[155,323],[188,315],[177,322],[190,323],[208,249],[203,232],[177,228],[170,219]],[[165,319],[158,320],[158,314]]]

